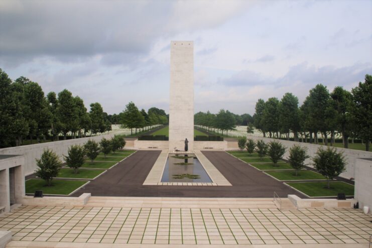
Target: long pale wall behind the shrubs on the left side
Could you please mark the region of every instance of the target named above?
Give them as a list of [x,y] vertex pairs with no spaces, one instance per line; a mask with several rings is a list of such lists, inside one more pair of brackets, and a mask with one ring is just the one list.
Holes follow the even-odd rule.
[[3,155],[24,155],[25,164],[23,170],[25,175],[30,175],[36,170],[36,159],[40,159],[43,151],[47,148],[53,150],[63,160],[62,155],[67,155],[67,150],[71,145],[83,145],[88,140],[94,140],[99,142],[102,138],[111,139],[113,135],[101,135],[87,138],[66,140],[66,141],[55,141],[42,144],[34,144],[20,147],[9,147],[0,149],[0,154]]

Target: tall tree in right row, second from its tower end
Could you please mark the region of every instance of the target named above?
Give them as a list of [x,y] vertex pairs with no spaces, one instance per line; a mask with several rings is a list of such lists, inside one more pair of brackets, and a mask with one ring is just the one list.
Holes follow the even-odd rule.
[[276,97],[271,97],[265,103],[264,114],[262,116],[262,122],[264,130],[269,132],[270,138],[272,133],[277,134],[279,132],[279,115],[278,115],[279,100]]

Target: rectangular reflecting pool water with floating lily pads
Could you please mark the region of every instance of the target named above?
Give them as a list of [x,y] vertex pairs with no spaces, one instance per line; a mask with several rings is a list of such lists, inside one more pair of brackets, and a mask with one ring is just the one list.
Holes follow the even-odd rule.
[[211,183],[194,154],[169,154],[162,182]]

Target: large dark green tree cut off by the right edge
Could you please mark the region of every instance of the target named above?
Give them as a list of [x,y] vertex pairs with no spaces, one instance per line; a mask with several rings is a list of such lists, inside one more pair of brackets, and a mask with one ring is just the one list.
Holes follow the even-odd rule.
[[350,119],[356,136],[365,141],[365,151],[369,151],[372,140],[372,76],[365,75],[364,82],[351,89],[353,104],[350,106]]

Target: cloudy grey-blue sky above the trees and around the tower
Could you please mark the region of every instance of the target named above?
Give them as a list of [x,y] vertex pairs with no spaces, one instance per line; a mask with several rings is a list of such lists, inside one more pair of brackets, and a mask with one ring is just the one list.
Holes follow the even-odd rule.
[[195,112],[253,114],[372,74],[372,1],[0,1],[0,68],[109,114],[168,112],[171,40],[194,41]]

